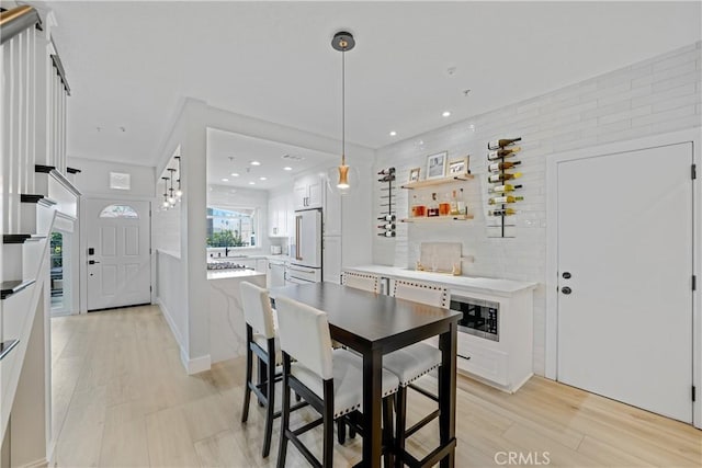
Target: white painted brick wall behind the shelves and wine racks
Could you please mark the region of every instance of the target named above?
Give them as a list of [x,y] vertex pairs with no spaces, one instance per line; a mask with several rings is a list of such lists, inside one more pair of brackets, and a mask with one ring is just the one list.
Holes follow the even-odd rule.
[[[374,236],[375,263],[408,267],[415,264],[422,241],[462,242],[465,275],[539,282],[534,295],[534,372],[544,373],[545,317],[545,157],[629,140],[653,134],[702,127],[702,42],[639,64],[614,70],[548,94],[477,115],[418,135],[377,151],[376,168],[395,165],[398,185],[409,169],[426,168],[426,157],[448,150],[449,159],[471,155],[475,180],[464,185],[472,221],[397,227],[395,239]],[[497,138],[522,137],[524,185],[514,239],[488,238],[486,144]],[[635,168],[632,168],[635,170]],[[374,214],[380,213],[380,184],[375,184]],[[438,190],[440,192],[440,190]],[[398,191],[398,217],[407,217],[408,191]],[[490,232],[491,233],[491,232]]]

